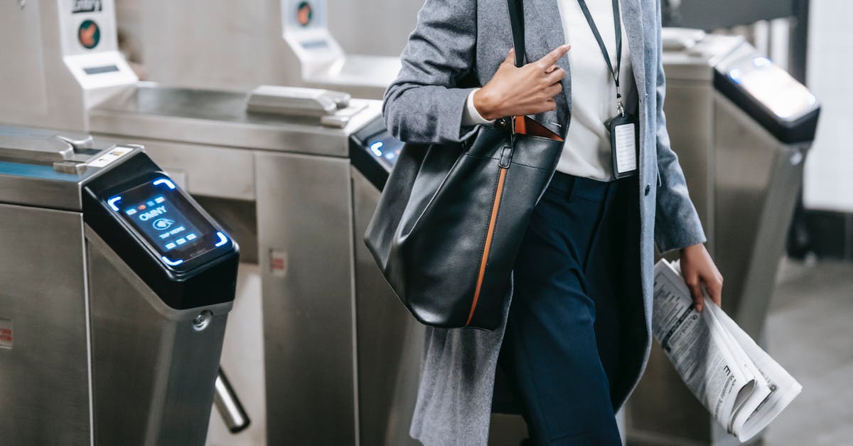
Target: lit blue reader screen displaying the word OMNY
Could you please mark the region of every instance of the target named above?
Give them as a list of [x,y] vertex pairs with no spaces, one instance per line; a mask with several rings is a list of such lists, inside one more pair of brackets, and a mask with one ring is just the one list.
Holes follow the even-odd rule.
[[225,243],[221,232],[193,208],[170,179],[137,185],[109,198],[107,204],[170,265]]

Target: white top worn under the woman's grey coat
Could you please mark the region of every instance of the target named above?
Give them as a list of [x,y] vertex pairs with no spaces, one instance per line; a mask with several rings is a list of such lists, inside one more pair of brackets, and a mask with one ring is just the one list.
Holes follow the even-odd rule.
[[[613,176],[610,132],[605,122],[617,114],[616,85],[601,55],[595,35],[589,28],[577,0],[558,0],[572,70],[572,121],[566,132],[566,145],[557,170],[578,177],[611,181]],[[613,23],[612,1],[587,0],[589,13],[616,67],[616,28]],[[620,11],[621,12],[621,11]],[[624,21],[623,21],[624,23]],[[619,85],[626,110],[635,109],[634,74],[631,69],[628,37],[622,26],[622,69]],[[487,124],[489,120],[473,106],[473,92],[468,95],[462,123]]]

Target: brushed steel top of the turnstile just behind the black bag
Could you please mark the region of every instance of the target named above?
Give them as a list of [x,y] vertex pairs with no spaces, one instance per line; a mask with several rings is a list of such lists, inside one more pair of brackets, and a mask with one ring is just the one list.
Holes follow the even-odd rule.
[[381,114],[380,101],[353,99],[366,106],[344,128],[319,126],[310,117],[248,114],[246,92],[166,88],[140,83],[90,112],[92,132],[133,138],[247,149],[347,156],[345,137]]

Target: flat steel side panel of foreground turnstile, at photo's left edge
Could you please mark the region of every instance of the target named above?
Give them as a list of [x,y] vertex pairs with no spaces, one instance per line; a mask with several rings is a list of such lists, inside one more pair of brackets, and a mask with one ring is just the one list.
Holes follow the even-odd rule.
[[83,217],[0,204],[0,443],[90,443]]

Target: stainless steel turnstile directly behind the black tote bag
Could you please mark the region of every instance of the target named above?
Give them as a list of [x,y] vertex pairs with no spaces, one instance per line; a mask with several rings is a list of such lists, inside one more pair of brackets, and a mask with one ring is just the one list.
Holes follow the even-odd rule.
[[[253,427],[211,444],[415,444],[423,330],[362,241],[400,143],[378,101],[296,92],[309,107],[282,115],[275,97],[142,84],[90,128],[145,144],[245,254],[237,304],[258,308],[232,315],[222,366]],[[261,348],[262,370],[248,367]]]

